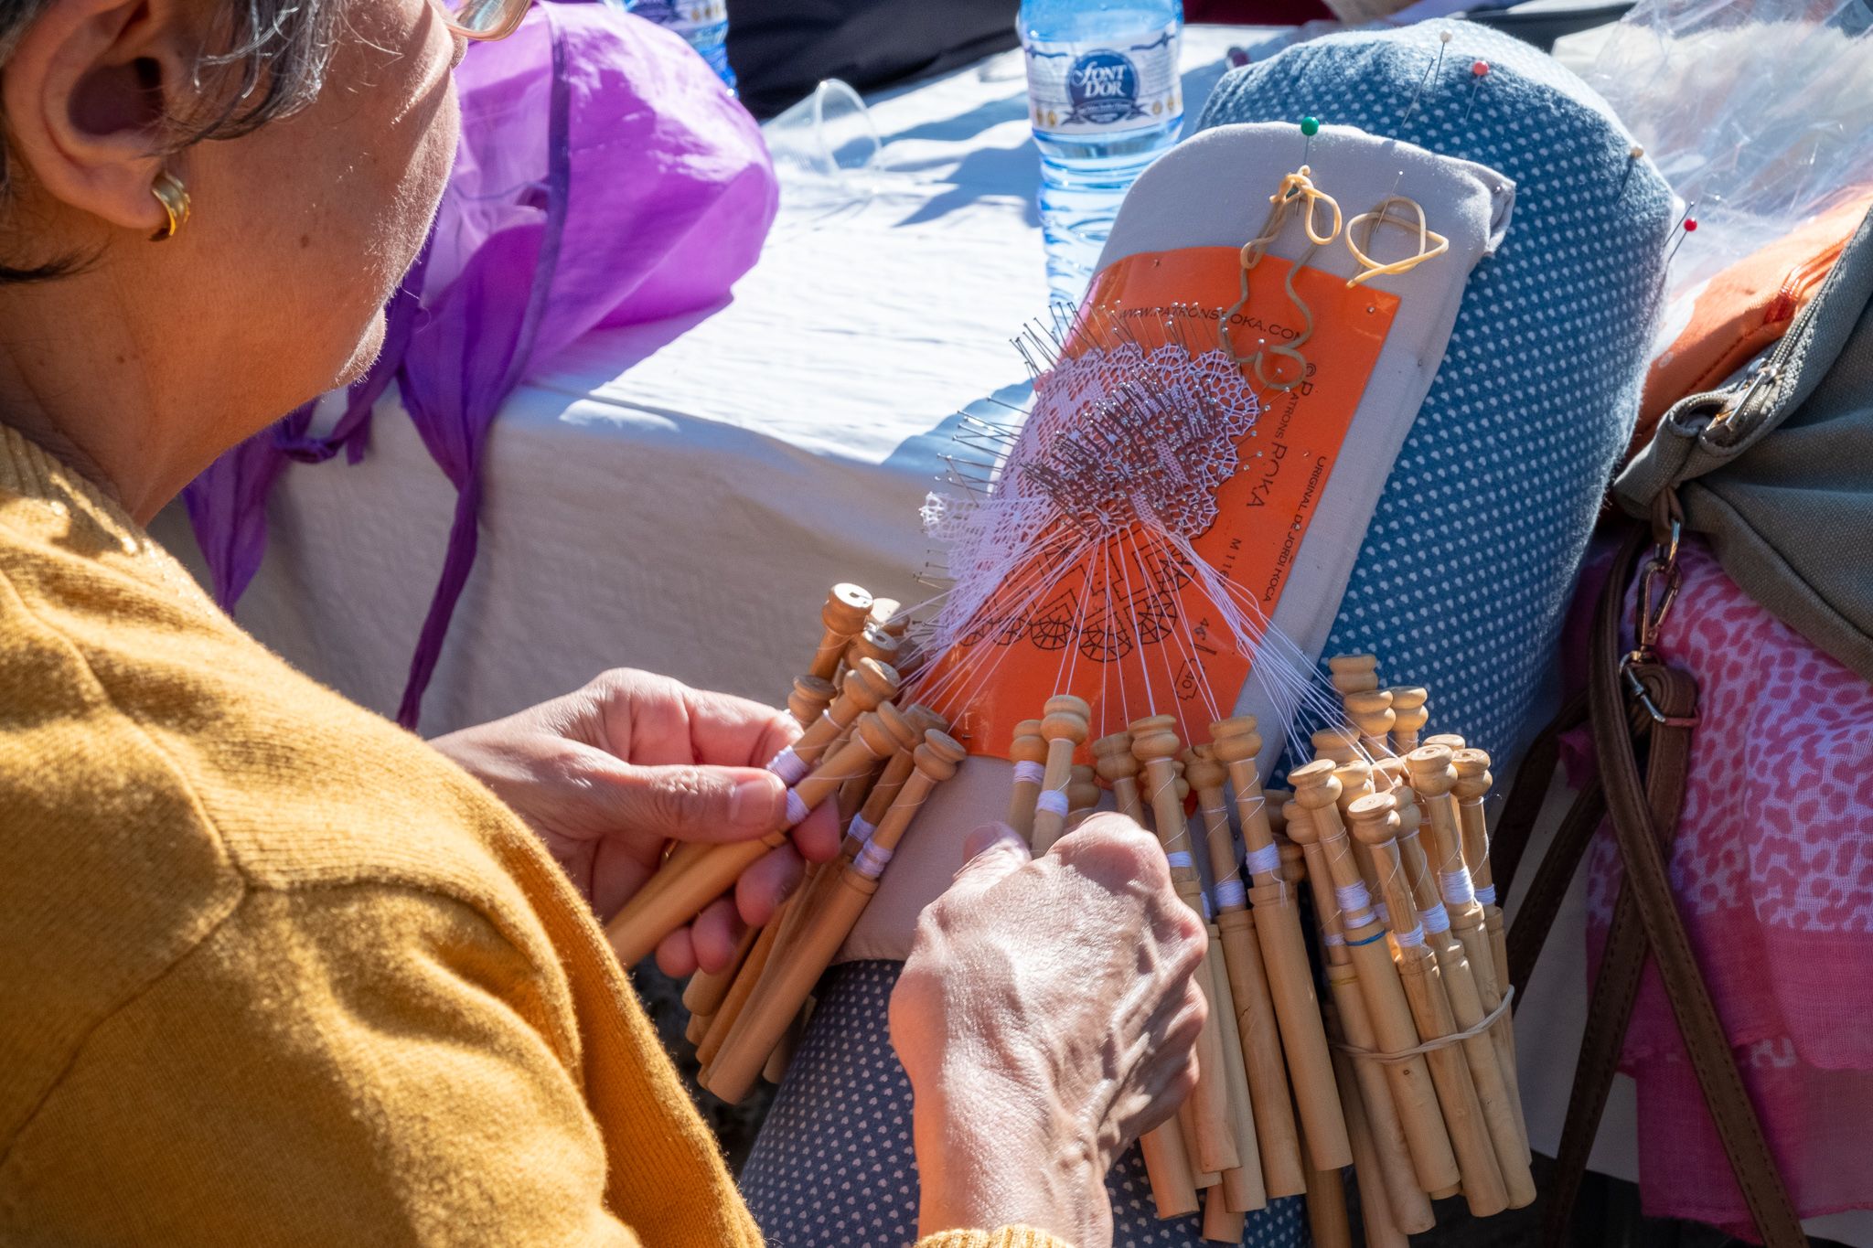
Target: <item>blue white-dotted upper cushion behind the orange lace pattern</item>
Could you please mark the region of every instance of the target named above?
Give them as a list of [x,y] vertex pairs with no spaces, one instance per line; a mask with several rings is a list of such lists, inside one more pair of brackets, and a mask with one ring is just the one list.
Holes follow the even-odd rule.
[[1429,687],[1431,732],[1512,763],[1637,419],[1671,193],[1586,84],[1472,22],[1290,47],[1225,77],[1199,129],[1302,116],[1515,180],[1508,234],[1470,275],[1326,644]]

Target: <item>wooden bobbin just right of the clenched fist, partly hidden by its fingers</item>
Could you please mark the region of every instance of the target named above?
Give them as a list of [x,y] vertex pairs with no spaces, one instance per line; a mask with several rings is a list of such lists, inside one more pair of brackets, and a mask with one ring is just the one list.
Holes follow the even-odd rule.
[[[1182,743],[1176,739],[1169,717],[1148,717],[1131,722],[1131,754],[1144,767],[1144,791],[1156,825],[1158,844],[1163,846],[1171,861],[1171,883],[1178,896],[1197,913],[1202,913],[1202,879],[1197,876],[1189,851],[1189,829],[1184,823],[1184,803],[1178,797],[1176,756]],[[1199,984],[1212,982],[1210,973],[1219,951],[1204,952],[1204,969]],[[1212,995],[1212,994],[1206,994]],[[1214,1001],[1212,1001],[1214,1007]],[[1229,1126],[1229,1083],[1223,1078],[1223,1033],[1216,1009],[1204,1020],[1202,1035],[1197,1040],[1197,1089],[1186,1108],[1189,1110],[1189,1134],[1193,1162],[1199,1171],[1221,1173],[1242,1166],[1236,1141]]]

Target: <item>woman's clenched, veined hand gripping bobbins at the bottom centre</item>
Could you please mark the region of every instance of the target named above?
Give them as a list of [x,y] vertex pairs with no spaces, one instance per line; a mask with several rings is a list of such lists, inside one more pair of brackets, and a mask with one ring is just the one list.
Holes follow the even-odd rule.
[[918,1233],[1025,1224],[1094,1248],[1113,1237],[1105,1173],[1195,1085],[1204,928],[1122,816],[1034,861],[1002,825],[970,849],[892,994]]

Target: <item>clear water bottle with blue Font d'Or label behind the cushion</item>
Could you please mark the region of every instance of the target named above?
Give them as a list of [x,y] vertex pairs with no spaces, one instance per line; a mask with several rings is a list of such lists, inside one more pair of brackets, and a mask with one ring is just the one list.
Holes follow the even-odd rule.
[[1182,0],[1023,0],[1053,301],[1086,290],[1118,202],[1184,125]]

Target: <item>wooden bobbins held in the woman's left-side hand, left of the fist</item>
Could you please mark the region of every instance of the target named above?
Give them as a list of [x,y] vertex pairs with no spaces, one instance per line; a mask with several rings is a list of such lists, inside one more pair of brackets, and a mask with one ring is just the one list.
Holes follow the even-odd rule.
[[740,1100],[766,1072],[777,1080],[809,1010],[815,982],[878,889],[897,842],[931,790],[963,762],[948,724],[922,705],[897,705],[893,660],[903,649],[899,604],[858,586],[833,586],[824,634],[787,707],[802,726],[768,769],[789,784],[787,816],[768,836],[740,844],[674,846],[607,934],[631,965],[665,936],[734,887],[740,874],[822,803],[833,803],[845,842],[813,866],[723,971],[699,973],[684,992],[701,1083]]

